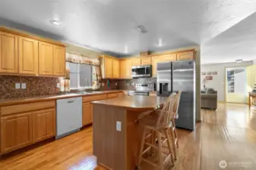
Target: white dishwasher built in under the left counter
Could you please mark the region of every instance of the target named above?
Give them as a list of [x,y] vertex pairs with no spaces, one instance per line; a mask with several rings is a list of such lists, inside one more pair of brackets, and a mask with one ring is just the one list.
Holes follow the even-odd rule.
[[80,130],[82,110],[82,97],[57,100],[57,139]]

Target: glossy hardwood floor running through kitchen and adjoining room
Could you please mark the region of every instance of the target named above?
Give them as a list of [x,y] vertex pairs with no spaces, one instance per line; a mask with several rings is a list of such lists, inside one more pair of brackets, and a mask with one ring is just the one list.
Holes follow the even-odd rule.
[[[201,110],[202,122],[196,131],[179,129],[178,160],[175,170],[220,170],[219,162],[226,160],[224,169],[256,169],[256,109],[242,104],[218,104],[218,109]],[[4,156],[0,169],[95,169],[92,128],[85,128],[66,138],[40,147]],[[142,170],[154,169],[144,163]],[[122,170],[122,169],[120,169]]]

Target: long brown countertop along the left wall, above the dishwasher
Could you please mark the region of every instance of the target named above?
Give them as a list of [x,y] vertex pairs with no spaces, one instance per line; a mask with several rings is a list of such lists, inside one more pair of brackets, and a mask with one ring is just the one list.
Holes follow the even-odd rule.
[[71,97],[83,97],[83,96],[92,96],[98,94],[109,94],[109,93],[117,93],[122,92],[122,90],[112,90],[112,91],[95,91],[93,93],[69,93],[69,94],[55,94],[55,95],[45,95],[38,97],[24,97],[24,98],[13,98],[13,99],[0,99],[0,106],[12,105],[12,104],[24,104],[24,103],[32,103],[44,100],[57,100]]

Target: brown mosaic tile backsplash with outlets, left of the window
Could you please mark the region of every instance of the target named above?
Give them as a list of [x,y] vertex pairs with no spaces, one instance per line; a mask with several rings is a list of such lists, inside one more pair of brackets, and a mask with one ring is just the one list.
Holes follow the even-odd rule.
[[[15,83],[26,83],[26,89],[16,89]],[[33,76],[0,76],[0,98],[35,97],[58,93],[58,78]]]

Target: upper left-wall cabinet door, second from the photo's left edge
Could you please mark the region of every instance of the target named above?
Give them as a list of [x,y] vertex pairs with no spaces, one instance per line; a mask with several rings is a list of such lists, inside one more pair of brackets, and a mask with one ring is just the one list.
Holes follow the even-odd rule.
[[38,74],[38,42],[19,36],[19,73]]

